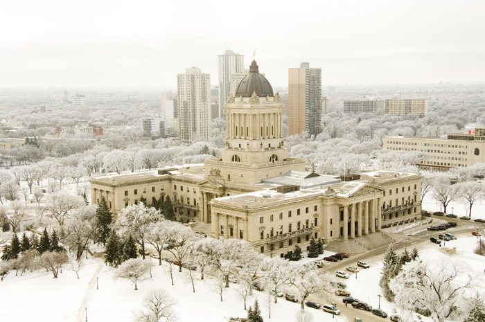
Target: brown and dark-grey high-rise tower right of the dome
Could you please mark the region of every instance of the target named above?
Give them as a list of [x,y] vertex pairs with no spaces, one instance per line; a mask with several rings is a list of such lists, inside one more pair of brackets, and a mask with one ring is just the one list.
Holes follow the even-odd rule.
[[302,62],[288,69],[288,134],[320,133],[321,69]]

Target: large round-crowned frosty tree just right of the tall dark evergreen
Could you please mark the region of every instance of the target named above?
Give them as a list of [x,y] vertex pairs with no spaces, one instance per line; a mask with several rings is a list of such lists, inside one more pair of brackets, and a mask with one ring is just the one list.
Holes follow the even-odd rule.
[[122,237],[132,235],[141,247],[143,259],[145,259],[145,242],[148,227],[153,222],[163,220],[163,216],[155,208],[145,207],[144,204],[134,204],[123,208],[116,219],[116,229]]

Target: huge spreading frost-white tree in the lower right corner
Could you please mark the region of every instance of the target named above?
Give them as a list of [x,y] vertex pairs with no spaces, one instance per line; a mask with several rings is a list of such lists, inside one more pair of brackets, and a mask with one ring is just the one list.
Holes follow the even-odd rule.
[[470,273],[451,260],[430,263],[412,260],[391,280],[389,287],[394,300],[406,310],[429,314],[434,322],[464,315],[466,290],[470,288]]

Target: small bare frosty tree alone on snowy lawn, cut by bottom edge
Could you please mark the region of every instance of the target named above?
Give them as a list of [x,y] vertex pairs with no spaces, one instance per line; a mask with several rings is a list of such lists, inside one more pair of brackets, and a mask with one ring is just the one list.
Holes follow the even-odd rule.
[[163,289],[150,292],[143,300],[145,310],[136,316],[138,322],[173,322],[176,319],[173,306],[177,302]]

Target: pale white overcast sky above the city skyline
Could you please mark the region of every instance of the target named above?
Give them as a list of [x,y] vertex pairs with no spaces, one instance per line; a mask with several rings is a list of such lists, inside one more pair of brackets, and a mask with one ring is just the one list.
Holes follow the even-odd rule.
[[218,82],[227,48],[275,87],[485,81],[485,1],[0,0],[0,87],[175,88]]

